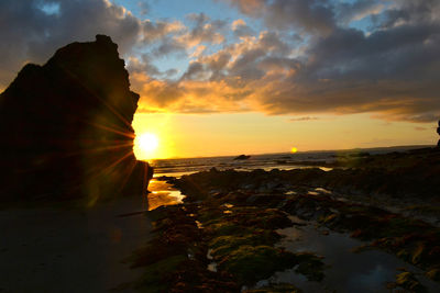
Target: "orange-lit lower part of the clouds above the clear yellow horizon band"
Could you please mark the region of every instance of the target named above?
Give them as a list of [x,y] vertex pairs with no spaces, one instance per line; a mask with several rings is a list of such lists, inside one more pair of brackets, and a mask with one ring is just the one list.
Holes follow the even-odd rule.
[[[351,32],[342,33],[350,35]],[[358,61],[361,71],[344,72],[341,68],[345,61],[351,63],[346,57],[350,54],[340,55],[339,48],[332,47],[332,37],[293,57],[290,46],[275,32],[242,37],[239,43],[211,55],[201,54],[205,46],[199,45],[193,55],[195,60],[180,79],[158,80],[134,75],[132,84],[141,93],[141,111],[260,111],[272,115],[373,113],[383,120],[413,122],[432,121],[440,114],[437,82],[399,80],[400,72],[374,81],[369,77],[369,67],[373,64],[369,60]],[[362,36],[356,42],[367,41]],[[352,65],[350,69],[356,70],[356,67]]]

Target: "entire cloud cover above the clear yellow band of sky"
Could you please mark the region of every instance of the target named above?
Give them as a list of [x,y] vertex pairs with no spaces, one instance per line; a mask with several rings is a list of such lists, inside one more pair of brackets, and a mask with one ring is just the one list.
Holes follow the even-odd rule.
[[[418,123],[440,116],[439,1],[223,1],[243,18],[153,21],[108,0],[1,1],[8,26],[0,25],[0,88],[25,61],[105,33],[127,56],[144,112],[371,113]],[[263,29],[250,27],[249,18]],[[366,18],[367,33],[353,25]],[[165,70],[163,57],[188,66]]]

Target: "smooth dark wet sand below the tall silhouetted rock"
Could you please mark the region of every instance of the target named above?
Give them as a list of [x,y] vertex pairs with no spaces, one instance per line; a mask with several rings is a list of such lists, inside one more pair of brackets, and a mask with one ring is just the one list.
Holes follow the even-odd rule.
[[[146,199],[121,198],[90,209],[0,211],[0,292],[103,292],[136,280],[123,262],[150,238]],[[122,290],[119,292],[130,292]]]

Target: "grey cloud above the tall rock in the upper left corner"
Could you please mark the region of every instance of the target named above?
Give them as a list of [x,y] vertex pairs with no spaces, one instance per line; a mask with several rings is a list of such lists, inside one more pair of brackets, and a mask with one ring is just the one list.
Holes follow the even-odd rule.
[[136,18],[107,0],[2,0],[0,19],[0,88],[9,84],[25,63],[41,64],[68,43],[95,40],[103,33],[127,52],[141,30]]

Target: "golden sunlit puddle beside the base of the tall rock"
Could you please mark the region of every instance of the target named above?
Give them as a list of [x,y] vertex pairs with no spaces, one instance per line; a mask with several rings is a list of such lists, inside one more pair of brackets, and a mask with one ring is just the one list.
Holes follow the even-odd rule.
[[179,204],[185,199],[185,195],[179,190],[173,188],[166,181],[152,179],[150,181],[148,190],[148,211],[157,209],[162,205]]

